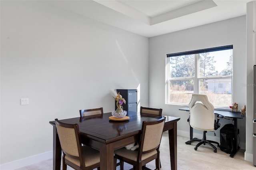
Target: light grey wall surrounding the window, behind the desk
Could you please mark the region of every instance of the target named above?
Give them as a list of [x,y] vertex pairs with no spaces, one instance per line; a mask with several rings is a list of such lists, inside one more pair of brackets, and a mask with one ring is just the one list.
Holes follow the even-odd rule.
[[[149,105],[150,107],[162,108],[164,115],[180,117],[178,134],[189,136],[189,124],[187,122],[189,115],[185,111],[178,110],[184,106],[165,104],[166,54],[230,44],[233,44],[234,56],[233,102],[238,103],[238,107],[241,109],[246,104],[246,16],[149,39]],[[247,112],[246,114],[252,113]],[[221,119],[220,123],[223,126],[232,123],[232,121]],[[245,149],[245,119],[238,120],[238,128],[240,128],[240,146]],[[219,130],[216,130],[216,134],[219,136]],[[207,135],[212,136],[213,133]]]

